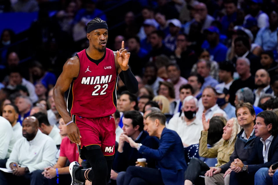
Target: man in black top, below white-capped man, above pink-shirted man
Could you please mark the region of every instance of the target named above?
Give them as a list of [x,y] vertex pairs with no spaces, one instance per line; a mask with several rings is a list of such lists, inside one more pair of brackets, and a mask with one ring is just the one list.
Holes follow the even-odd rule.
[[192,66],[197,62],[197,56],[193,50],[188,48],[188,36],[185,34],[178,35],[176,45],[175,59],[180,66],[180,75],[187,78],[189,77]]

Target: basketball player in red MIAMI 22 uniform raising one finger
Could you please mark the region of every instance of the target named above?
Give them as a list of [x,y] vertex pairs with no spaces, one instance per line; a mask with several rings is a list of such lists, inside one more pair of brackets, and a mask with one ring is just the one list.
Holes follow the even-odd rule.
[[[78,162],[69,165],[72,185],[85,180],[105,185],[110,179],[115,153],[115,121],[117,76],[127,89],[136,93],[138,82],[131,73],[130,53],[124,48],[106,48],[107,23],[94,18],[87,24],[89,47],[67,60],[53,90],[56,108],[67,123],[67,134],[77,144],[81,159],[92,168],[83,169]],[[67,107],[64,92],[70,88]],[[71,113],[68,115],[67,110]]]

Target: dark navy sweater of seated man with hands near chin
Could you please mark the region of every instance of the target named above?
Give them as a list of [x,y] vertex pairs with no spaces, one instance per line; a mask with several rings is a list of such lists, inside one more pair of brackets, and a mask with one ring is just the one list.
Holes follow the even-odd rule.
[[[147,147],[157,149],[158,148],[158,139],[156,137],[149,136],[148,132],[143,131],[142,135],[138,140],[135,141],[136,143],[141,143]],[[126,171],[128,166],[135,166],[135,162],[138,158],[146,158],[148,167],[155,168],[155,160],[150,158],[147,155],[144,155],[137,151],[136,148],[132,148],[129,143],[125,142],[123,147],[123,152],[120,153],[116,151],[113,167],[112,169],[120,172]]]

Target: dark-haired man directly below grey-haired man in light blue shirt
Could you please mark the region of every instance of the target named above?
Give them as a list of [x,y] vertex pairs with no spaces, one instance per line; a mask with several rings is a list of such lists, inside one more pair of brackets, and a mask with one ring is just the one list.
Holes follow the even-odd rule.
[[202,97],[201,87],[204,84],[204,78],[199,74],[192,74],[188,77],[188,84],[190,84],[194,91],[194,97],[199,100]]

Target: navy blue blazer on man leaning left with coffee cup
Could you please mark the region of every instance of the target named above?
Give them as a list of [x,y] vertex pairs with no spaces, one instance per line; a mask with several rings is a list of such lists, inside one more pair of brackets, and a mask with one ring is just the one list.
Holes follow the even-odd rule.
[[165,127],[157,150],[142,145],[139,152],[157,160],[156,167],[160,169],[165,185],[184,184],[184,171],[187,165],[182,140],[177,132]]

